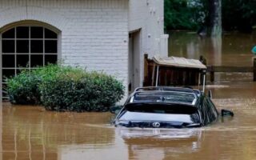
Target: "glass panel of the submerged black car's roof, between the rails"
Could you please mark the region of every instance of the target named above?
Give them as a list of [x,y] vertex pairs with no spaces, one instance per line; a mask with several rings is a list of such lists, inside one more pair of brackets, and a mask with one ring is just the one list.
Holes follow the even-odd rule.
[[178,102],[194,104],[196,96],[183,92],[138,92],[135,93],[130,102]]

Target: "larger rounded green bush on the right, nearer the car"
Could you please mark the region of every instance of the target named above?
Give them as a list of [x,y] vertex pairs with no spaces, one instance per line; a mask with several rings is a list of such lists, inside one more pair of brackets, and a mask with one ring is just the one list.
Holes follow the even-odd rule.
[[106,111],[124,94],[124,86],[113,77],[96,72],[58,74],[40,85],[47,110]]

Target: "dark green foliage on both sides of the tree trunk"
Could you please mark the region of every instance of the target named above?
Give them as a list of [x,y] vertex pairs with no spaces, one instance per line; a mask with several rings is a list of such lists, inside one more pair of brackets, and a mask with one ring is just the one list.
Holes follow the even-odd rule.
[[[198,30],[210,25],[209,0],[165,0],[166,30]],[[224,30],[250,32],[256,25],[256,1],[222,0]]]

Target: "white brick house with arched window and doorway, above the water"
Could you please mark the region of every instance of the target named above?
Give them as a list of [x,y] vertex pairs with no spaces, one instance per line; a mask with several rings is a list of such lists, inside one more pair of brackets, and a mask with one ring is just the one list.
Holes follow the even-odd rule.
[[[167,56],[163,0],[2,0],[2,85],[48,63],[112,74],[142,86],[143,55]],[[6,96],[6,95],[3,95]]]

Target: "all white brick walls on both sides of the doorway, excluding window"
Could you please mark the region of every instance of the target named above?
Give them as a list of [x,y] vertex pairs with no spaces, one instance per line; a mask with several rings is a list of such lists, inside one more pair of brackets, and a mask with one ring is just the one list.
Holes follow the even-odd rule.
[[61,31],[59,54],[66,65],[103,70],[125,86],[129,31],[142,30],[141,80],[143,54],[166,54],[161,49],[163,0],[0,1],[0,34],[23,20],[45,22]]

